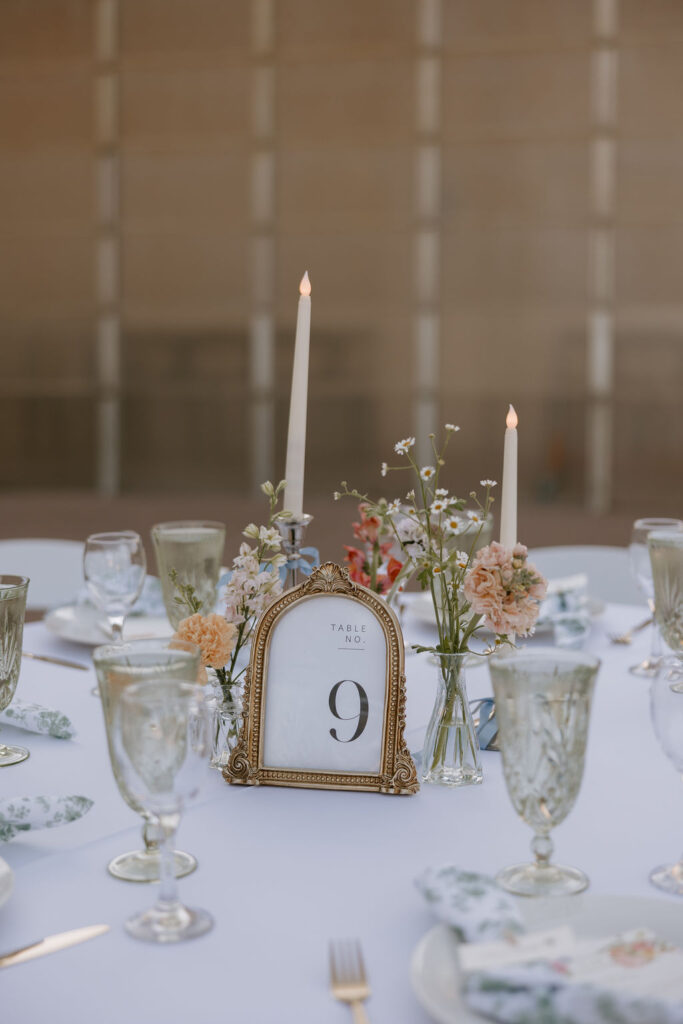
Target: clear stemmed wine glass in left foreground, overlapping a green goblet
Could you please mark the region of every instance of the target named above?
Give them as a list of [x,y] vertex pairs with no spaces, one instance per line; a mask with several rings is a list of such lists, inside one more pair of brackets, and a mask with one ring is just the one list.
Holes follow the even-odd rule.
[[173,841],[180,815],[199,793],[209,765],[209,715],[201,686],[175,679],[133,683],[114,714],[114,753],[125,787],[162,829],[156,904],[126,922],[145,942],[181,942],[213,928],[206,910],[178,899]]

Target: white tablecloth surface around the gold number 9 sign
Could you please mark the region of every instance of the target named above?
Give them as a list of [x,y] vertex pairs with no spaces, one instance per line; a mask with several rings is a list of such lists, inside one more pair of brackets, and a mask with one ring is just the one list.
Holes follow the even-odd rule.
[[[591,891],[650,896],[649,869],[683,845],[683,792],[649,720],[648,683],[629,675],[649,638],[630,647],[606,633],[640,621],[641,607],[610,605],[586,644],[602,658],[586,773],[574,809],[553,834],[560,862],[584,868]],[[407,641],[433,642],[411,617]],[[29,625],[25,649],[90,663],[89,650]],[[434,695],[433,665],[405,659],[407,738],[421,744]],[[137,849],[140,819],[111,772],[94,674],[25,659],[17,696],[58,708],[78,730],[59,740],[3,726],[3,738],[31,749],[0,774],[4,797],[82,794],[94,800],[80,821],[26,833],[0,845],[15,873],[0,908],[0,953],[56,932],[106,923],[103,937],[2,971],[7,1024],[270,1024],[350,1020],[330,996],[328,942],[357,937],[373,988],[373,1024],[427,1024],[414,996],[412,952],[434,919],[414,887],[428,865],[457,863],[495,873],[529,856],[531,834],[512,809],[500,755],[481,756],[480,786],[423,786],[414,797],[227,785],[211,771],[182,819],[178,846],[199,869],[180,896],[215,916],[209,935],[155,947],[129,938],[123,923],[151,904],[155,888],[111,878],[116,854]],[[468,672],[471,697],[489,693],[485,667]],[[683,912],[683,901],[681,901]]]

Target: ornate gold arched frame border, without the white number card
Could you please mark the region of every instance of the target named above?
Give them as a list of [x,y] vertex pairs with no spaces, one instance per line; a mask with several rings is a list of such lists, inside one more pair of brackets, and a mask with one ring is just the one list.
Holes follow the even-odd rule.
[[[263,764],[263,701],[272,631],[280,617],[293,604],[313,598],[325,599],[329,594],[349,597],[369,608],[382,627],[387,642],[384,739],[377,774],[326,770],[299,771],[268,767]],[[230,755],[227,767],[223,769],[223,777],[230,783],[355,790],[397,796],[410,796],[420,788],[415,763],[403,738],[405,675],[400,627],[385,601],[366,587],[353,583],[349,579],[347,569],[335,562],[326,562],[313,569],[304,583],[286,591],[261,615],[254,631],[243,706],[240,739]]]

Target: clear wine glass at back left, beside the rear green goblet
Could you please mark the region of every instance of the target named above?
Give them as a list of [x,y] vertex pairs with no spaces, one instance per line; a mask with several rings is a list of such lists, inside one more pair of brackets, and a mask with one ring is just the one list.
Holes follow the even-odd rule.
[[88,592],[109,622],[115,642],[123,640],[126,615],[140,596],[146,558],[139,534],[91,534],[83,552]]

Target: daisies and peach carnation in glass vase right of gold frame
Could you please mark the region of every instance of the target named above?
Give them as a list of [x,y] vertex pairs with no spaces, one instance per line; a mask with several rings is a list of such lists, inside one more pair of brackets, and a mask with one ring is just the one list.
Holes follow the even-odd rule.
[[[546,593],[546,582],[527,562],[523,545],[511,550],[497,543],[479,548],[496,481],[480,481],[483,497],[479,500],[471,492],[474,507],[469,509],[466,499],[441,486],[446,449],[458,431],[446,423],[438,446],[435,435],[429,435],[432,459],[427,465],[415,458],[415,437],[397,441],[394,452],[402,461],[396,466],[382,463],[381,474],[410,472],[414,482],[403,497],[374,501],[345,481],[335,493],[335,499],[348,496],[360,503],[362,520],[355,526],[375,538],[380,553],[383,545],[386,553],[389,550],[389,541],[380,540],[384,537],[391,537],[402,552],[404,560],[385,592],[387,600],[412,577],[431,594],[438,641],[429,647],[415,645],[418,651],[431,651],[439,667],[439,690],[422,753],[422,780],[445,785],[482,779],[464,681],[467,655],[489,654],[501,644],[514,644],[515,634],[531,633]],[[371,534],[365,523],[372,523]],[[370,575],[362,567],[358,571]],[[494,633],[494,643],[483,652],[473,650],[472,641],[484,627]]]

